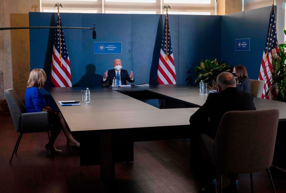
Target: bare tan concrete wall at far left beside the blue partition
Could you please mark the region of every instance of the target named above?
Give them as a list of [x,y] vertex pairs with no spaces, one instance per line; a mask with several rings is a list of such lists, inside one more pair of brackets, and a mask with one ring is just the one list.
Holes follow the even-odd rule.
[[[29,12],[40,11],[39,0],[0,0],[2,27],[29,26]],[[0,113],[3,112],[3,90],[13,88],[24,99],[30,72],[29,30],[0,31]],[[1,102],[2,101],[2,102]]]

